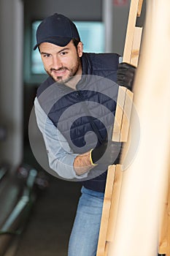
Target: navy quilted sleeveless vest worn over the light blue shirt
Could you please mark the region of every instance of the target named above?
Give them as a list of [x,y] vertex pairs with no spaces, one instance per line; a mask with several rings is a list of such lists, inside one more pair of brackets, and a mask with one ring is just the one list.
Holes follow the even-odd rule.
[[[76,154],[85,153],[112,138],[118,91],[114,83],[117,64],[117,54],[83,53],[83,75],[76,91],[55,83],[52,78],[39,86],[37,97],[45,91],[45,98],[39,97],[40,105]],[[106,170],[107,166],[94,167],[89,179],[82,184],[104,192]]]

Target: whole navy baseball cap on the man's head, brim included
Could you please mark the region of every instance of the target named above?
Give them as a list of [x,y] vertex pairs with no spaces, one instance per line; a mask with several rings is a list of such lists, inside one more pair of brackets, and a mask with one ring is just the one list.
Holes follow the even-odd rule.
[[42,21],[36,31],[36,45],[34,50],[42,42],[51,42],[58,46],[66,46],[73,39],[80,41],[77,27],[72,20],[64,15],[55,13]]

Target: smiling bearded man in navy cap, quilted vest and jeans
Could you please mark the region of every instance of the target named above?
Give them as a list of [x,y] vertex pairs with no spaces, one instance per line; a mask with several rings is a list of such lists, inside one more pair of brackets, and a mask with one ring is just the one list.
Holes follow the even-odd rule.
[[[76,26],[57,13],[42,21],[36,40],[34,50],[39,48],[49,75],[35,99],[49,165],[59,177],[82,182],[69,256],[93,256],[107,167],[117,163],[121,148],[121,143],[111,141],[119,56],[83,53]],[[120,77],[124,79],[122,72]]]

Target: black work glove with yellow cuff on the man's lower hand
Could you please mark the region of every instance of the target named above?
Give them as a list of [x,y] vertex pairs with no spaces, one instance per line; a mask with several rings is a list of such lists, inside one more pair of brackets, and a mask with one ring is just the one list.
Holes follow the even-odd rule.
[[116,165],[120,159],[121,146],[122,143],[120,142],[104,141],[101,146],[91,151],[92,164]]

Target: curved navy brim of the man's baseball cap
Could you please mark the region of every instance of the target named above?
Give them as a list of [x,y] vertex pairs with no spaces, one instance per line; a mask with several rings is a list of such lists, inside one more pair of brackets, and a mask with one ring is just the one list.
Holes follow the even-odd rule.
[[72,38],[70,37],[48,37],[37,42],[33,49],[36,50],[36,48],[39,47],[39,45],[42,44],[42,42],[50,42],[54,45],[63,47],[68,45],[71,40]]

